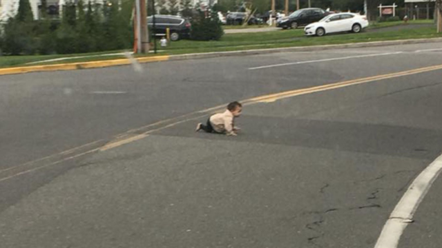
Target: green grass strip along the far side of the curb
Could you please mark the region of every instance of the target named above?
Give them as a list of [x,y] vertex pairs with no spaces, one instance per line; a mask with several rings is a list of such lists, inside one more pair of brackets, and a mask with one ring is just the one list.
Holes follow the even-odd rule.
[[[428,21],[419,21],[412,23],[431,23]],[[388,25],[387,25],[388,24]],[[382,27],[391,26],[393,23],[378,23]],[[396,23],[396,25],[402,25]],[[379,27],[379,26],[378,26]],[[328,45],[343,43],[360,43],[367,41],[390,41],[400,39],[423,39],[442,37],[442,34],[436,34],[436,28],[424,25],[415,29],[403,29],[388,32],[362,32],[360,34],[330,34],[325,37],[305,37],[301,29],[298,30],[278,30],[272,32],[243,33],[243,34],[224,34],[220,41],[175,41],[168,48],[158,54],[148,54],[148,56],[158,56],[165,54],[189,54],[199,52],[224,52],[236,50],[252,50],[264,48],[289,48],[309,45]],[[46,59],[55,59],[71,56],[86,56],[97,54],[108,54],[113,52],[98,52],[93,54],[70,54],[70,55],[48,55],[48,56],[0,56],[0,68],[6,68],[17,65],[24,65],[32,61],[43,61]],[[121,51],[119,51],[121,52]],[[137,55],[146,56],[146,55]],[[85,61],[98,61],[106,59],[121,59],[124,56],[98,56],[82,59],[68,59],[66,61],[53,61],[39,64],[54,63],[75,63]]]

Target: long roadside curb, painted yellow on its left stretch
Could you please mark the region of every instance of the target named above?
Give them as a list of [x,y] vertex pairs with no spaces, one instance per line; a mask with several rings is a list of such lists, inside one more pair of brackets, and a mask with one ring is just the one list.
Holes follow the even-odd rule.
[[[416,44],[416,43],[436,43],[436,42],[442,42],[442,38],[408,39],[408,40],[396,40],[396,41],[372,41],[364,43],[347,43],[339,45],[312,45],[312,46],[292,47],[292,48],[269,48],[269,49],[241,50],[233,52],[206,52],[199,54],[151,56],[151,57],[137,58],[137,61],[139,63],[150,63],[150,62],[159,62],[159,61],[179,61],[185,59],[209,59],[220,56],[243,56],[243,55],[256,55],[256,54],[271,54],[277,52],[311,52],[311,51],[343,49],[343,48],[370,48],[370,47],[378,47],[385,45],[407,45],[407,44]],[[35,65],[35,66],[0,69],[0,75],[21,74],[27,72],[48,72],[48,71],[50,72],[50,71],[59,71],[59,70],[106,68],[116,65],[128,65],[130,63],[131,62],[128,59],[115,59],[108,61],[64,63],[57,65]]]

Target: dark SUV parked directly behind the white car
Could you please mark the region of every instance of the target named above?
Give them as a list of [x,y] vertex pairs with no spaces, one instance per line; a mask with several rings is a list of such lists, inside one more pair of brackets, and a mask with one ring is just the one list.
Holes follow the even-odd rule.
[[284,17],[276,21],[276,26],[278,28],[298,28],[299,26],[309,25],[323,19],[329,12],[325,12],[320,8],[306,8],[301,10],[296,10],[289,17]]

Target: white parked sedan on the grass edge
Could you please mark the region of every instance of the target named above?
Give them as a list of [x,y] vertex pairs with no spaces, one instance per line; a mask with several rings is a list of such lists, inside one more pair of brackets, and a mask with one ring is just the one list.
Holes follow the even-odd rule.
[[330,14],[322,20],[311,23],[304,28],[305,35],[321,37],[334,32],[361,32],[367,28],[367,17],[354,13]]

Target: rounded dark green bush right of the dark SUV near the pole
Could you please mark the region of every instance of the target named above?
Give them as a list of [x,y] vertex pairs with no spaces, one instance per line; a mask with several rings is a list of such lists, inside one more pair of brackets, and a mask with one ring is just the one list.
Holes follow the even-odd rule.
[[191,39],[197,41],[218,41],[224,34],[218,14],[211,12],[209,17],[206,17],[206,14],[208,13],[198,10],[198,15],[192,19]]

